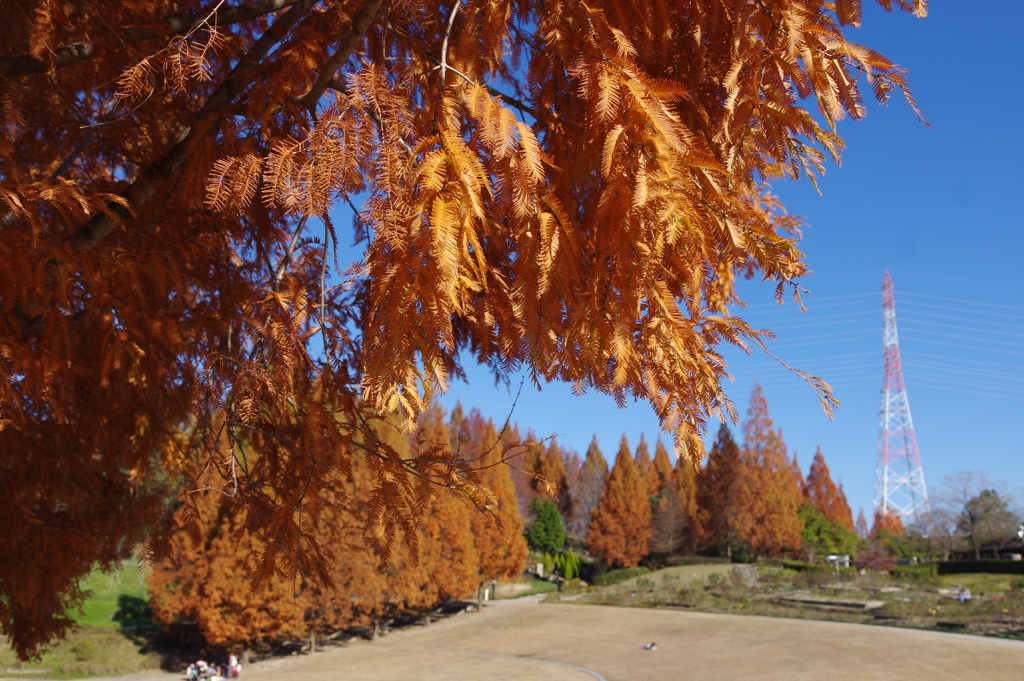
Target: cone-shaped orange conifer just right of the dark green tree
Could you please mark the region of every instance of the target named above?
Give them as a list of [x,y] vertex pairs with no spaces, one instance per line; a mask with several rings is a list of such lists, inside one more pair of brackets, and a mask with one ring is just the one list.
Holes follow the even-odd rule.
[[640,477],[623,435],[601,501],[591,514],[587,548],[609,565],[634,567],[649,552],[652,531],[647,483]]

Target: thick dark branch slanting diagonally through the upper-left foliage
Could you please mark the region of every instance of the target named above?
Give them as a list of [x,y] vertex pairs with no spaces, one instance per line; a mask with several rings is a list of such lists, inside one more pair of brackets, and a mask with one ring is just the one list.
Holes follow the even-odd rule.
[[[127,200],[132,209],[141,208],[157,190],[157,186],[174,174],[184,161],[185,153],[194,139],[206,134],[220,123],[234,97],[253,82],[256,76],[256,67],[314,3],[315,0],[294,2],[291,9],[274,22],[239,60],[220,87],[210,95],[210,98],[196,114],[193,124],[181,131],[175,143],[121,193],[121,197]],[[110,209],[121,219],[130,217],[129,211],[119,204],[111,204]],[[116,226],[117,221],[113,217],[100,213],[72,237],[72,247],[79,252],[86,251],[105,239]]]

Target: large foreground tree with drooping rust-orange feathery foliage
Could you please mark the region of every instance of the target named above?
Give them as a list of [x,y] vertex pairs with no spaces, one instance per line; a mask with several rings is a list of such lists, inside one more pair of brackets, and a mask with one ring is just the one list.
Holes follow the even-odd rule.
[[270,576],[317,479],[365,450],[386,561],[430,494],[411,478],[475,483],[371,424],[412,431],[465,356],[647,399],[699,458],[734,414],[718,346],[767,336],[730,313],[736,278],[781,296],[807,271],[766,181],[838,158],[864,81],[906,93],[846,37],[860,19],[856,0],[4,2],[2,633],[25,656],[66,631],[78,579],[151,528],[165,549],[154,523],[208,466],[272,527]]

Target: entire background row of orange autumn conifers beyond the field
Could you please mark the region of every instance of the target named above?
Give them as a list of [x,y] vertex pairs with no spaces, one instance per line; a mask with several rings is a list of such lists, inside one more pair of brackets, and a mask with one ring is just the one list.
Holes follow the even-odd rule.
[[375,508],[370,457],[353,457],[350,470],[327,476],[318,497],[300,505],[307,541],[285,560],[272,528],[250,531],[254,511],[238,506],[228,481],[204,479],[167,521],[175,548],[155,561],[151,605],[168,630],[240,650],[377,626],[466,597],[484,581],[517,580],[541,505],[555,506],[570,542],[608,567],[651,555],[776,557],[815,543],[820,551],[855,546],[842,486],[820,451],[804,479],[760,387],[742,429],[740,444],[723,425],[698,466],[685,457],[673,465],[660,440],[653,457],[643,438],[631,452],[624,435],[609,470],[596,437],[581,460],[554,439],[500,429],[477,410],[445,415],[435,403],[415,437],[384,427],[381,438],[408,458],[455,452],[476,472],[465,485],[446,485],[457,490],[432,491],[421,524],[386,564],[372,549],[380,539],[367,529],[373,523],[355,521]]

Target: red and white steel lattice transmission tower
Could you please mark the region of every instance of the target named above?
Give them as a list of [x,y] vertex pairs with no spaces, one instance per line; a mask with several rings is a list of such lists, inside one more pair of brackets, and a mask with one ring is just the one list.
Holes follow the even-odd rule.
[[888,270],[882,282],[882,299],[886,381],[882,388],[879,458],[874,468],[874,510],[884,515],[898,514],[904,523],[927,525],[928,490],[903,383],[896,334],[896,300]]

